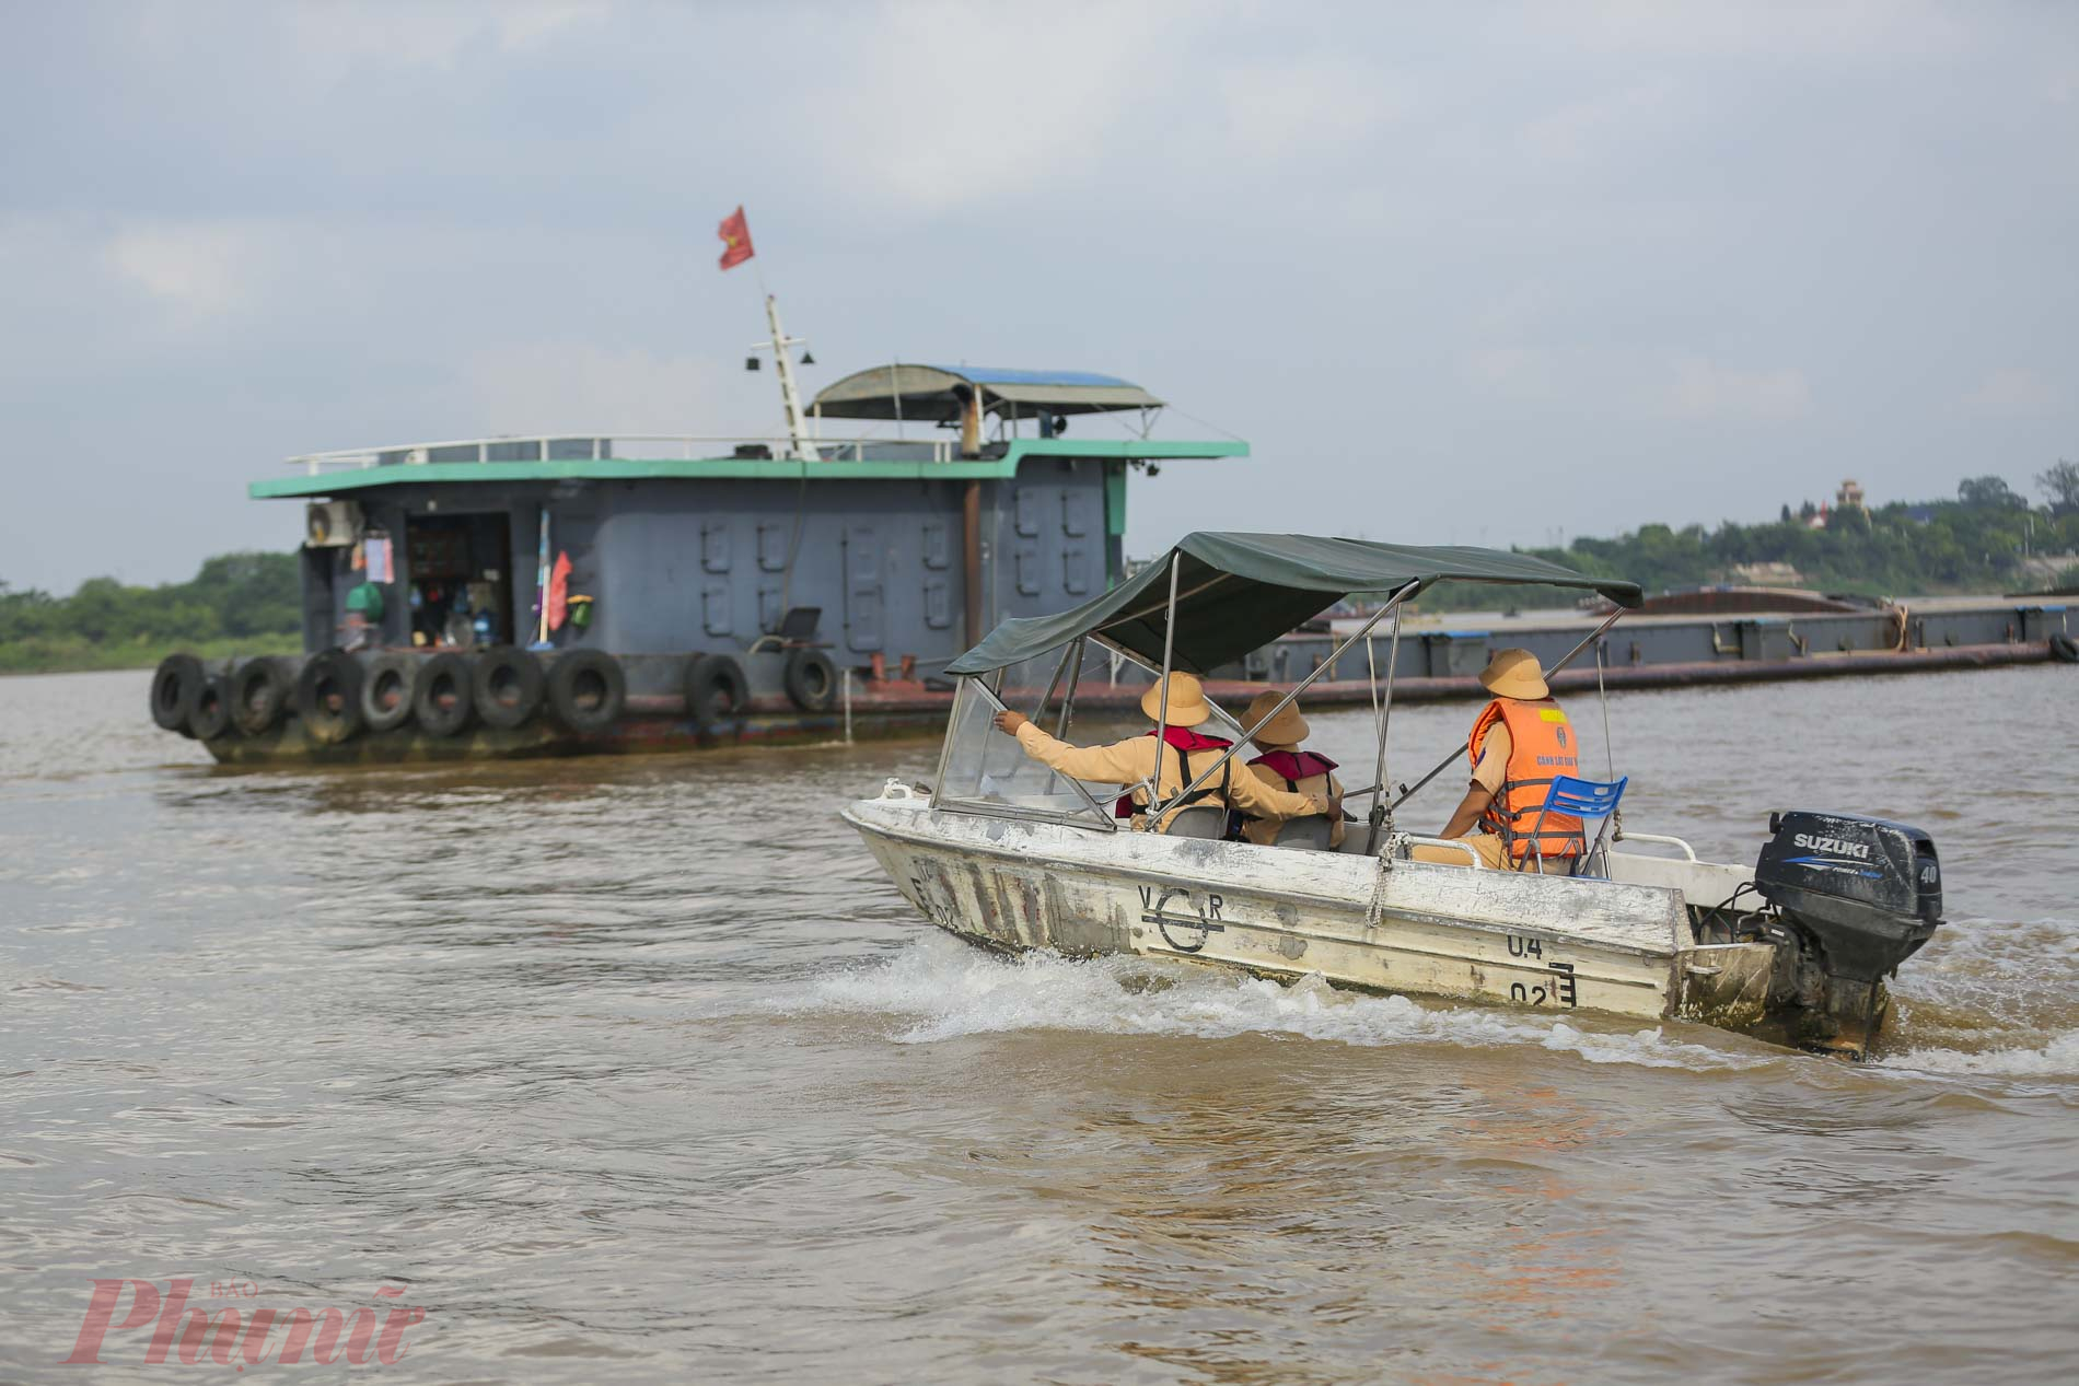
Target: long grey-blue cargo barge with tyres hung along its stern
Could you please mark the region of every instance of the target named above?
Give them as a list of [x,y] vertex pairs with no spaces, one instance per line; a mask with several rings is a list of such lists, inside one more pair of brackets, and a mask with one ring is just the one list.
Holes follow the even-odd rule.
[[[306,652],[168,657],[152,717],[227,765],[936,734],[952,707],[948,661],[1008,617],[1067,611],[1127,578],[1137,470],[1247,457],[1243,443],[1148,436],[1162,401],[1087,372],[881,366],[802,407],[778,320],[773,343],[786,401],[775,438],[559,434],[291,459],[293,476],[249,490],[306,507]],[[892,434],[823,436],[830,420]],[[1106,424],[1125,436],[1081,436]],[[1584,659],[1559,686],[1902,673],[2071,650],[2056,601],[1844,607],[1717,592],[1674,605],[1653,617],[1649,603],[1599,644],[1601,669]],[[1208,688],[1243,700],[1239,684],[1289,688],[1331,659],[1345,619],[1310,621]],[[1397,696],[1482,696],[1472,675],[1493,648],[1551,663],[1597,623],[1578,611],[1412,617]],[[1385,659],[1345,652],[1310,704],[1368,702]],[[1012,671],[1004,696],[1029,682],[1040,698],[1048,675]],[[1077,696],[1127,709],[1150,677],[1121,655],[1085,665]]]

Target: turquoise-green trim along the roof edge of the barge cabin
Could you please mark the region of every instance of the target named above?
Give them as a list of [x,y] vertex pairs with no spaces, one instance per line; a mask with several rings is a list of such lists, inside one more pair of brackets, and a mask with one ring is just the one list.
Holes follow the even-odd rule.
[[428,486],[435,482],[559,482],[559,480],[834,480],[834,482],[911,482],[911,480],[1006,480],[1017,476],[1025,457],[1102,457],[1168,461],[1177,457],[1247,457],[1247,443],[1164,443],[1164,441],[1094,441],[1094,438],[1015,438],[1002,457],[977,461],[796,461],[790,457],[701,457],[644,459],[605,457],[599,461],[428,461],[420,465],[360,468],[318,472],[316,476],[281,476],[245,488],[254,501],[287,497],[331,497],[370,486]]

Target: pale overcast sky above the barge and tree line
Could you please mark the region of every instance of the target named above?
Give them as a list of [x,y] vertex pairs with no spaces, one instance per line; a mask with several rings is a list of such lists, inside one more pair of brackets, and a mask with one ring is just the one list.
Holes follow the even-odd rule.
[[[0,580],[297,451],[1127,376],[1189,528],[1547,542],[2079,457],[2075,4],[0,2]],[[1191,418],[1185,418],[1191,416]],[[1112,424],[1079,424],[1079,432]]]

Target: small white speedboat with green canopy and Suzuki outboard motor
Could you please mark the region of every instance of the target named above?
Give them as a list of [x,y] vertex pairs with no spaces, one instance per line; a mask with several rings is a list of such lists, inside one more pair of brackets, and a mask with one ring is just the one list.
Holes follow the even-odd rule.
[[[1482,869],[1464,848],[1466,864],[1412,858],[1416,846],[1457,846],[1393,821],[1449,761],[1414,790],[1387,794],[1399,613],[1437,582],[1586,588],[1615,603],[1553,671],[1588,646],[1601,667],[1603,634],[1640,603],[1636,584],[1516,553],[1189,534],[1104,596],[1004,621],[956,659],[936,781],[890,781],[844,819],[927,921],[992,948],[1179,958],[1287,981],[1320,975],[1362,991],[1696,1020],[1865,1056],[1890,1010],[1884,979],[1942,923],[1936,846],[1915,827],[1775,812],[1753,867],[1703,862],[1676,837],[1626,831],[1615,817],[1622,781],[1609,781],[1584,785],[1590,808],[1605,812],[1574,875]],[[1017,700],[1064,736],[1077,690],[1100,667],[1110,679],[1127,669],[1166,688],[1170,671],[1208,675],[1368,592],[1389,596],[1337,657],[1362,642],[1372,669],[1376,783],[1353,796],[1370,796],[1370,810],[1339,850],[1324,819],[1289,823],[1277,846],[1229,842],[1225,810],[1206,806],[1179,810],[1168,833],[1133,831],[1108,804],[1154,785],[1067,779],[992,729]],[[1198,777],[1168,804],[1189,802],[1258,725],[1333,667],[1335,657],[1249,727],[1216,709],[1235,746],[1206,769],[1193,761]],[[1158,821],[1168,804],[1137,821]]]

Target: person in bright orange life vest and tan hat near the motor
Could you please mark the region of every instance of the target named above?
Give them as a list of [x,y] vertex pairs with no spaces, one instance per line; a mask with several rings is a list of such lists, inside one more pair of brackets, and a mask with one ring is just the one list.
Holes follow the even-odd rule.
[[[1574,725],[1553,702],[1530,650],[1497,650],[1480,671],[1480,686],[1495,700],[1466,738],[1472,785],[1439,835],[1464,842],[1482,867],[1565,875],[1588,846],[1582,823],[1543,808],[1555,775],[1580,775]],[[1470,864],[1451,848],[1416,844],[1412,856]]]

